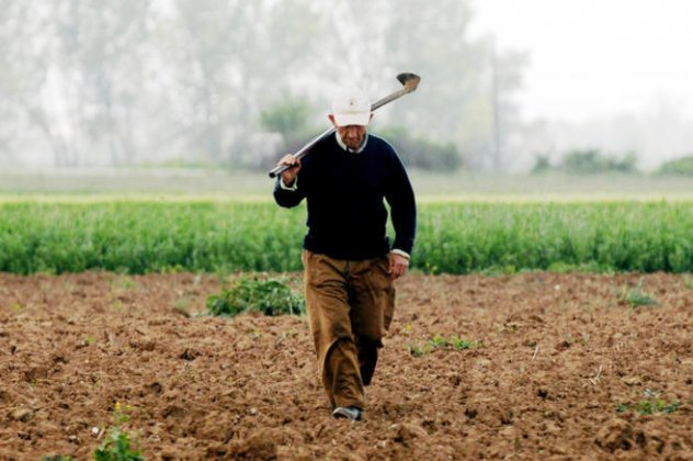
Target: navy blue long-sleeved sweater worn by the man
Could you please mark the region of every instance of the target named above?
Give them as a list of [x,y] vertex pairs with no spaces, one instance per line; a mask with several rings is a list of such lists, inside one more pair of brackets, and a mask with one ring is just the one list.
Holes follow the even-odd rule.
[[337,135],[320,140],[302,159],[295,191],[274,187],[274,200],[293,207],[305,198],[308,234],[304,248],[337,259],[357,260],[389,252],[386,236],[390,205],[393,248],[411,254],[417,228],[417,209],[411,183],[395,149],[368,134],[361,153],[344,150]]

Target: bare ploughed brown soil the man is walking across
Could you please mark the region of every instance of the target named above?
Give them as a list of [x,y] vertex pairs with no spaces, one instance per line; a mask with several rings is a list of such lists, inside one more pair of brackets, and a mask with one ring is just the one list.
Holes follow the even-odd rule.
[[[639,282],[657,306],[620,301]],[[409,276],[350,423],[305,318],[195,315],[214,276],[0,274],[0,458],[90,459],[120,402],[147,459],[693,459],[692,285]],[[481,347],[409,352],[453,334]],[[679,408],[617,412],[647,389]]]

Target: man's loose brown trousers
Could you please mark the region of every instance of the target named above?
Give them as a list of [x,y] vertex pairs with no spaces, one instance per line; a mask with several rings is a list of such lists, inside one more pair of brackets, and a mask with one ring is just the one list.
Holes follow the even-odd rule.
[[332,408],[365,409],[378,348],[393,321],[395,286],[387,257],[346,261],[304,250],[310,330]]

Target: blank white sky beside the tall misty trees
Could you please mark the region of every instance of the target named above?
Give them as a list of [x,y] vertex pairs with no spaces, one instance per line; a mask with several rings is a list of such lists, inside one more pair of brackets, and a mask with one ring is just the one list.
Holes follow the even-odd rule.
[[476,0],[477,33],[526,50],[520,97],[530,117],[586,122],[672,100],[693,115],[693,2]]

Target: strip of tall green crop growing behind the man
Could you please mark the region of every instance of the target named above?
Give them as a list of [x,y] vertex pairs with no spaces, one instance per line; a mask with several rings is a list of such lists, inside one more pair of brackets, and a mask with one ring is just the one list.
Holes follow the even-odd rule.
[[[293,271],[305,207],[269,201],[78,198],[0,202],[0,271]],[[423,200],[413,269],[693,271],[693,201]]]

